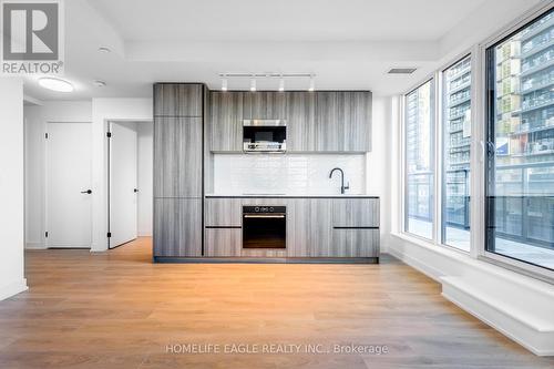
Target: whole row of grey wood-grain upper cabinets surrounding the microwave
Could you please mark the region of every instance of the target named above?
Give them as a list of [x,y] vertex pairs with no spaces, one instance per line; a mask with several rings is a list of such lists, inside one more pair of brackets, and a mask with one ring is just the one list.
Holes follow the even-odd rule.
[[371,92],[211,92],[207,144],[243,151],[243,120],[286,120],[289,152],[371,151]]

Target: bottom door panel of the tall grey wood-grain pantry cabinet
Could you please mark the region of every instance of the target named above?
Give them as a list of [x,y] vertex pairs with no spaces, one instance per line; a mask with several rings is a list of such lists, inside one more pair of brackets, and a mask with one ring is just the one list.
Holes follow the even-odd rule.
[[154,256],[202,256],[202,198],[154,198]]

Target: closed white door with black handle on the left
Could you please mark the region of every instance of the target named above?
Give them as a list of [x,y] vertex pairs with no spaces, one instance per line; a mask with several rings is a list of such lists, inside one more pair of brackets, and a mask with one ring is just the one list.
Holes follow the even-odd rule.
[[91,123],[47,123],[47,246],[91,247]]

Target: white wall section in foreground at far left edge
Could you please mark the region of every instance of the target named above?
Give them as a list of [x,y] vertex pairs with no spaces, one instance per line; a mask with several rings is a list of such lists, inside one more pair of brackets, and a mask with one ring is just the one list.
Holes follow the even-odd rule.
[[27,289],[23,271],[23,82],[0,79],[0,300]]

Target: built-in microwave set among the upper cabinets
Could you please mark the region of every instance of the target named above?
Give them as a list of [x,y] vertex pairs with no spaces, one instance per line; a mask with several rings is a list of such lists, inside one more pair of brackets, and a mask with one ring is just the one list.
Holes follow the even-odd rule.
[[287,121],[243,121],[243,146],[246,153],[284,153],[287,150]]

